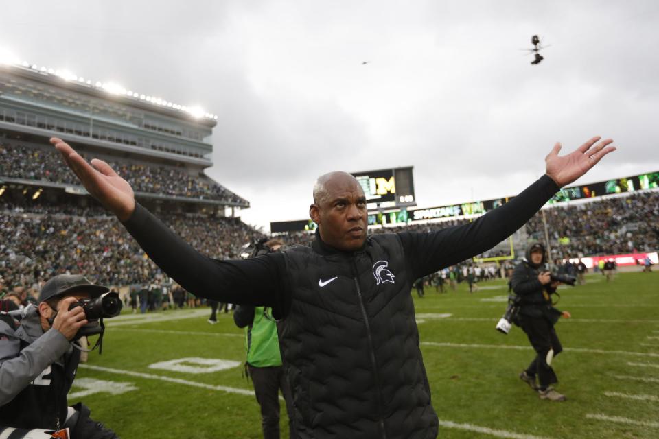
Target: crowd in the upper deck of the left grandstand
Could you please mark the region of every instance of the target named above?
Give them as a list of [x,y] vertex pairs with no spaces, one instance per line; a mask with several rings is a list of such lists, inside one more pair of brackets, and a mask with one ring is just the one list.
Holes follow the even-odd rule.
[[[84,156],[84,154],[82,155]],[[108,161],[108,163],[117,171],[117,174],[128,180],[136,192],[235,203],[245,202],[238,195],[213,182],[207,176],[192,176],[174,167],[117,161]],[[78,179],[62,163],[56,150],[21,145],[13,141],[3,141],[0,145],[0,177],[79,185]]]

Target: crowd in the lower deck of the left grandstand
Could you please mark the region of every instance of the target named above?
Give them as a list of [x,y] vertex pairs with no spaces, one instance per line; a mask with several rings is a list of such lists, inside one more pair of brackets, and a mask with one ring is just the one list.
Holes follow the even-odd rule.
[[[83,274],[103,285],[145,284],[161,277],[125,228],[101,208],[80,209],[86,210],[83,217],[72,215],[71,208],[69,213],[54,213],[54,207],[1,207],[0,272],[8,289],[38,289],[44,280],[65,272]],[[216,259],[237,257],[246,242],[260,236],[240,219],[160,217],[194,248]]]

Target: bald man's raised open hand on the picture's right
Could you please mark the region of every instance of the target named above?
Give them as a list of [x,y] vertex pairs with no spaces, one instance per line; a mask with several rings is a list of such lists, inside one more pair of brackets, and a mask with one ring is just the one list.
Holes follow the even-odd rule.
[[566,156],[558,155],[561,144],[556,143],[553,150],[544,158],[546,174],[559,187],[564,187],[577,180],[577,178],[586,174],[603,156],[616,150],[614,146],[607,146],[613,143],[613,139],[605,139],[597,143],[599,139],[601,139],[599,136],[593,137]]

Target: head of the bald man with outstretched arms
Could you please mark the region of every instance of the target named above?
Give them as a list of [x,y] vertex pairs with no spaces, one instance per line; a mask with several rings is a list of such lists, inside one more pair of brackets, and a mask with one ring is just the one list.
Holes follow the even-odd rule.
[[323,174],[314,185],[314,204],[309,215],[318,224],[321,239],[343,251],[358,250],[367,233],[364,189],[354,176],[334,171]]

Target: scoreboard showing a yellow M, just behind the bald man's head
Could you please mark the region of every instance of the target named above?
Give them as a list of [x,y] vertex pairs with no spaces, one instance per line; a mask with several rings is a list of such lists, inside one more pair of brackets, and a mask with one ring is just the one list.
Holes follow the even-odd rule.
[[353,172],[364,193],[369,211],[416,206],[413,167]]

